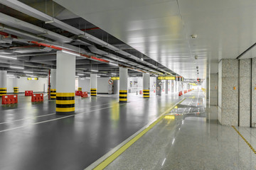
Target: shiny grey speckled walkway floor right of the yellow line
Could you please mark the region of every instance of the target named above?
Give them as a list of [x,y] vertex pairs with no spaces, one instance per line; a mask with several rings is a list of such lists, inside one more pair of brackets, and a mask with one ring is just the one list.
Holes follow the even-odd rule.
[[[256,169],[250,147],[232,127],[218,124],[217,106],[206,108],[202,92],[185,96],[106,169]],[[256,129],[236,128],[256,148]]]

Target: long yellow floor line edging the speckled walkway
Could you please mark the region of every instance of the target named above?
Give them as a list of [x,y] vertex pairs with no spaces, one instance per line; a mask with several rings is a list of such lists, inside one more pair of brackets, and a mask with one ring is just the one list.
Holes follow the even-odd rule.
[[[183,102],[186,98],[183,98],[182,101],[180,101],[179,103]],[[177,103],[175,106],[177,106],[179,103]],[[114,161],[114,159],[116,159],[117,157],[119,157],[120,154],[122,154],[126,149],[128,149],[131,145],[134,144],[134,142],[136,142],[137,140],[139,140],[140,137],[142,137],[146,132],[148,132],[151,128],[154,127],[154,125],[156,125],[157,123],[159,123],[160,120],[162,120],[164,118],[164,116],[169,113],[171,110],[174,109],[175,106],[172,106],[171,108],[169,108],[167,111],[165,111],[164,113],[161,114],[160,118],[158,118],[156,121],[154,121],[154,123],[151,123],[151,125],[149,125],[146,129],[142,130],[142,132],[140,132],[137,136],[135,136],[134,138],[132,138],[132,140],[129,140],[129,142],[127,142],[126,144],[124,144],[122,147],[120,147],[120,149],[118,149],[116,152],[114,152],[112,155],[110,155],[110,157],[107,157],[107,159],[105,159],[103,162],[101,162],[100,164],[98,164],[97,166],[95,166],[94,170],[100,170],[100,169],[105,169],[105,167],[107,165],[109,165],[111,162]]]

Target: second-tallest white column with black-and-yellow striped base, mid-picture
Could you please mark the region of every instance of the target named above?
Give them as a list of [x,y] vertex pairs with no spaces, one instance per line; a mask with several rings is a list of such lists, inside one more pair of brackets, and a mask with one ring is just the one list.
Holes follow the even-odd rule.
[[[119,102],[127,103],[128,69],[119,67]],[[144,86],[144,85],[143,85]]]

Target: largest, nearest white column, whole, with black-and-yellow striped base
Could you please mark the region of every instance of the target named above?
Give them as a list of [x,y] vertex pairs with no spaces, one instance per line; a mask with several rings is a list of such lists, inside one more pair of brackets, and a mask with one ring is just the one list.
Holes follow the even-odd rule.
[[57,52],[56,114],[75,113],[75,55]]

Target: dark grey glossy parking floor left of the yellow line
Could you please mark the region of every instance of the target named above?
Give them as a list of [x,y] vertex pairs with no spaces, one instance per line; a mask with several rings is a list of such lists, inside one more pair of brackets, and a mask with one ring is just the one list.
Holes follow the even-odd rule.
[[0,106],[0,169],[85,169],[182,98],[77,97],[76,114],[63,116],[55,115],[55,101],[31,103],[19,94],[18,104]]

